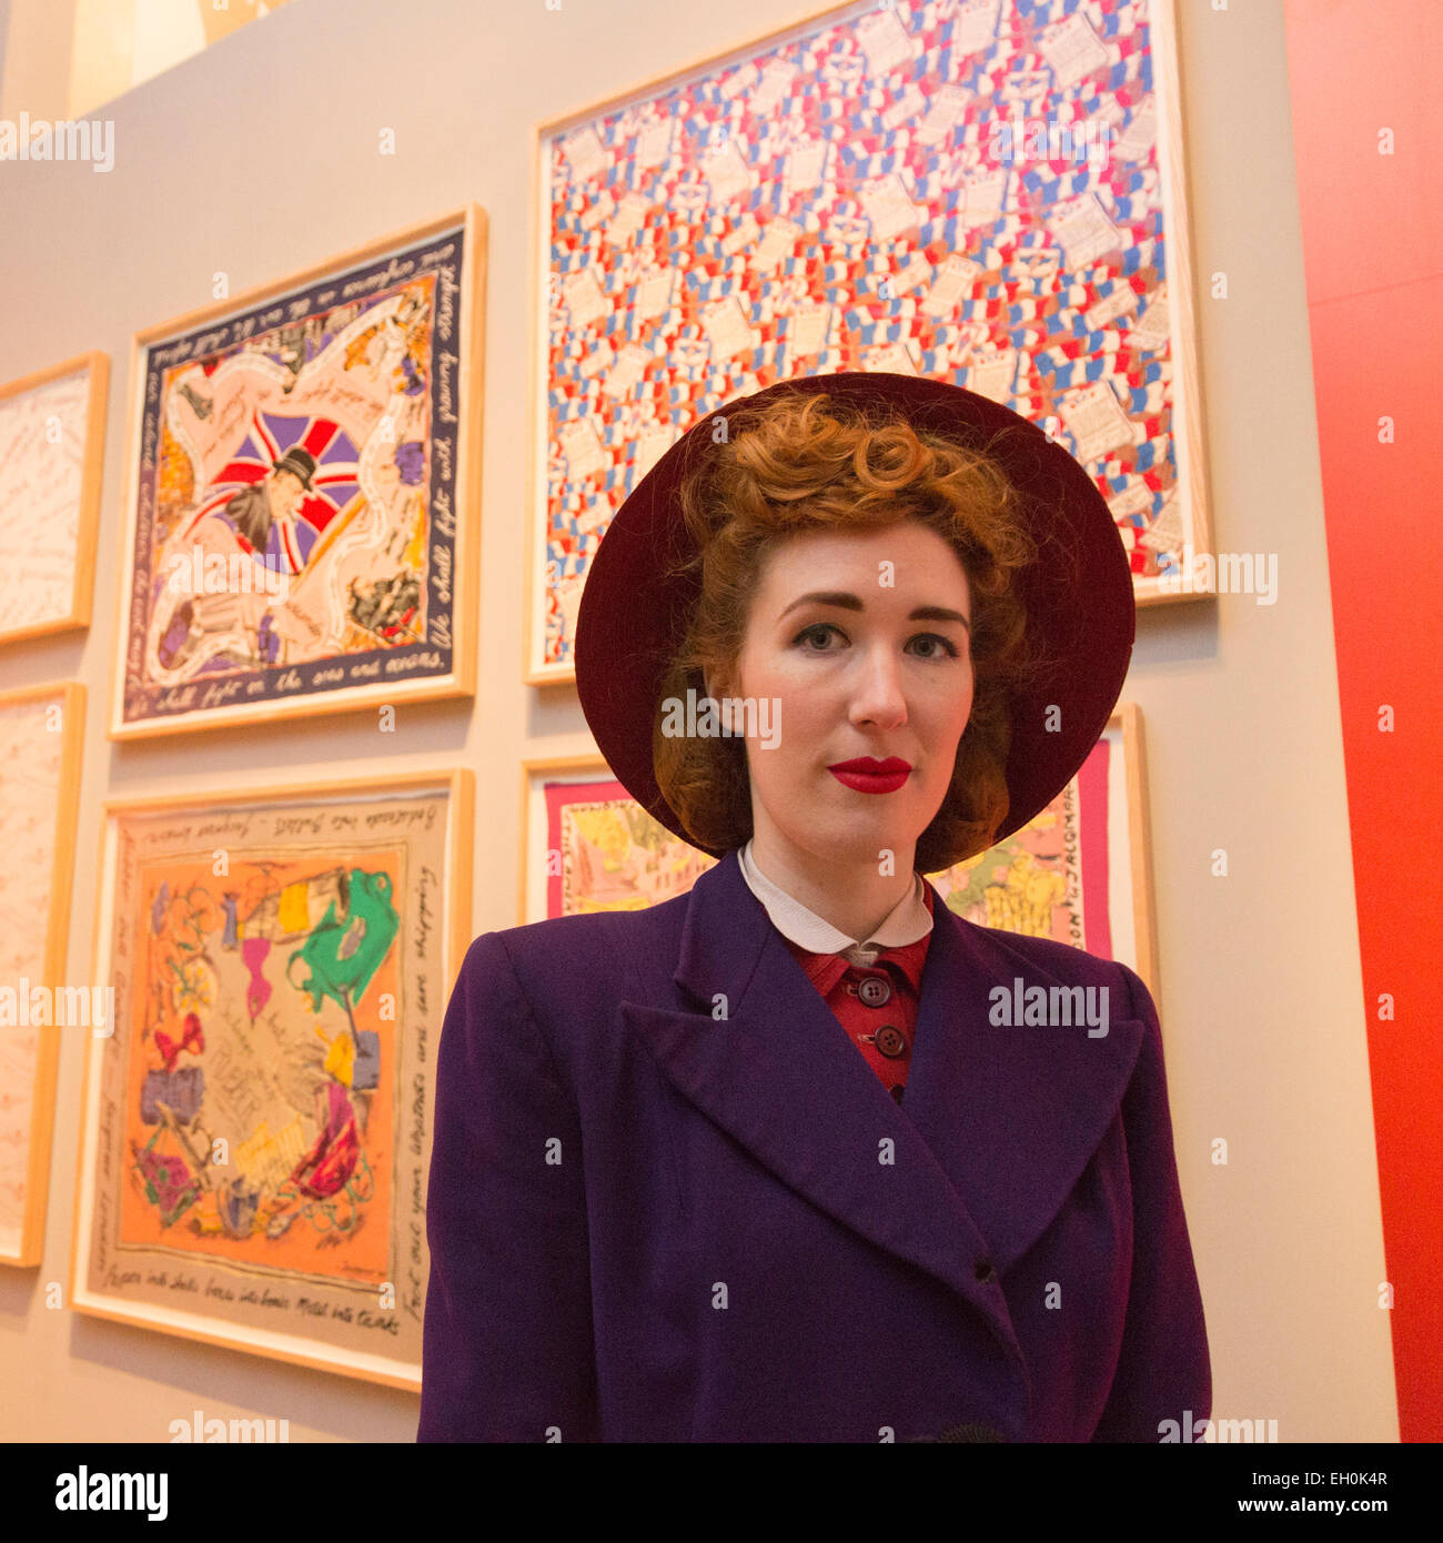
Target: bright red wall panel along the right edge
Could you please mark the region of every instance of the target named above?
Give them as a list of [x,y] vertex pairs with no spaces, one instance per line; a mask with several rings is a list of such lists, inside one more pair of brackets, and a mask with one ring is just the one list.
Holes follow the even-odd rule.
[[1398,1424],[1440,1441],[1443,6],[1287,0],[1286,17]]

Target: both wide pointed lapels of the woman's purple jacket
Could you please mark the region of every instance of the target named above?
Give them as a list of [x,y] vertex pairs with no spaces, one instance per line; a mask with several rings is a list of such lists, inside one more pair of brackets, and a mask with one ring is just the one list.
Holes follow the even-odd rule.
[[[1142,1025],[988,1021],[994,984],[1071,984],[932,895],[915,1054],[898,1105],[807,980],[736,852],[691,887],[674,981],[694,1006],[622,1001],[667,1079],[813,1205],[929,1271],[1020,1364],[995,1285],[1056,1216],[1111,1123]],[[860,1182],[858,1154],[894,1143],[906,1202]]]

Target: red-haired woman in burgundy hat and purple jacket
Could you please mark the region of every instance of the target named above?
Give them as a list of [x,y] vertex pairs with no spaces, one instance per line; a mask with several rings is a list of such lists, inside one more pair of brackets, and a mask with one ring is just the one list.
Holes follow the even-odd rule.
[[779,383],[637,485],[577,688],[628,792],[721,861],[472,943],[420,1440],[1157,1441],[1210,1413],[1147,988],[921,876],[1066,785],[1133,619],[1090,477],[937,381]]

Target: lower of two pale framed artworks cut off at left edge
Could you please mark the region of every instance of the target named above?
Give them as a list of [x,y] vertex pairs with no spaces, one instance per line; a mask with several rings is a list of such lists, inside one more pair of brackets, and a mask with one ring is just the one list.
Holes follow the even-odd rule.
[[40,1262],[60,1034],[90,1006],[65,971],[83,731],[79,680],[0,691],[0,1264]]

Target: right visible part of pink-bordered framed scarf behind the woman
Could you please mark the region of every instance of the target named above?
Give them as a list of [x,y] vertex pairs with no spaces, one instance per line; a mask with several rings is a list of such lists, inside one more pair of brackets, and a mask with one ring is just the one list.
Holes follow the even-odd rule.
[[1077,776],[1022,830],[928,876],[968,921],[1117,960],[1156,997],[1147,765],[1136,702],[1117,704]]

